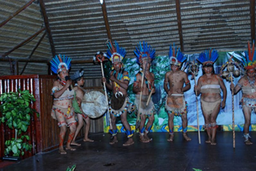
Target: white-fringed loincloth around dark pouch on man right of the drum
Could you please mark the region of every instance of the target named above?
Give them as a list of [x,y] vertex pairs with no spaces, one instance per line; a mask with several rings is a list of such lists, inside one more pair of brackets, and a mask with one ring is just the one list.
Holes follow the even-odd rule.
[[[114,95],[115,96],[115,95]],[[124,102],[123,102],[123,105],[121,106],[120,104],[118,104],[118,106],[114,105],[114,103],[116,103],[116,99],[115,98],[115,101],[113,101],[113,98],[111,98],[111,101],[110,101],[110,105],[109,105],[109,112],[110,114],[114,115],[115,117],[119,117],[121,116],[125,111],[130,111],[130,107],[132,106],[131,103],[129,102],[129,97],[125,97],[124,99]],[[111,105],[112,104],[112,105]],[[117,110],[114,110],[112,108],[112,106],[117,109]],[[121,107],[120,107],[121,106]],[[119,109],[118,109],[119,108]]]

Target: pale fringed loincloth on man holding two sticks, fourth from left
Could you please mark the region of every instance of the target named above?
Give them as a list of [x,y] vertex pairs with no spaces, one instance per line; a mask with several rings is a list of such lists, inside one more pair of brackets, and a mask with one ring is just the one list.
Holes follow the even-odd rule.
[[154,103],[152,101],[152,98],[150,98],[148,106],[146,105],[147,101],[148,101],[148,98],[149,98],[149,95],[142,95],[141,96],[141,106],[140,106],[140,109],[138,111],[139,103],[140,103],[140,94],[136,94],[136,98],[135,98],[134,103],[135,103],[137,112],[139,112],[140,115],[151,116],[151,115],[154,115],[154,113],[155,113],[155,106],[154,106]]

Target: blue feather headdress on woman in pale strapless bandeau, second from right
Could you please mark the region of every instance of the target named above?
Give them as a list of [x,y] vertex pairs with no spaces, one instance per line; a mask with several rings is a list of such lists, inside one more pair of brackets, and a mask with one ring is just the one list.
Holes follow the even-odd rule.
[[213,50],[206,50],[202,53],[200,53],[199,57],[197,58],[197,60],[199,62],[201,62],[203,64],[203,66],[205,65],[213,65],[214,62],[217,60],[218,58],[218,52],[217,50],[213,49]]

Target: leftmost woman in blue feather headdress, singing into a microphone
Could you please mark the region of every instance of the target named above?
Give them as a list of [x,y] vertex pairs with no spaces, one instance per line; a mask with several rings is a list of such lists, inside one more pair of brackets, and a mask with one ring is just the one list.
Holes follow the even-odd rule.
[[[69,126],[70,133],[66,149],[76,150],[70,146],[70,143],[74,137],[76,130],[76,120],[74,117],[74,108],[72,106],[72,100],[74,98],[74,90],[71,88],[71,79],[69,77],[68,70],[71,67],[71,58],[63,57],[59,54],[56,55],[51,61],[51,69],[58,75],[58,80],[54,81],[52,88],[53,107],[52,117],[58,120],[58,126],[60,127],[60,144],[59,153],[66,154],[63,148],[64,137],[66,134],[66,128]],[[77,99],[78,102],[79,99]]]

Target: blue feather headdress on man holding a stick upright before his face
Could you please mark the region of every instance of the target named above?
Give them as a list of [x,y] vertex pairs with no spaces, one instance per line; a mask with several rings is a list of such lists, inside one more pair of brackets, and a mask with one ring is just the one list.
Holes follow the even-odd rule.
[[[138,46],[138,47],[137,47]],[[148,43],[143,41],[143,47],[141,45],[141,42],[135,47],[135,50],[133,51],[136,55],[136,62],[141,65],[144,60],[153,61],[155,59],[155,49],[152,49],[150,45],[148,46]]]

